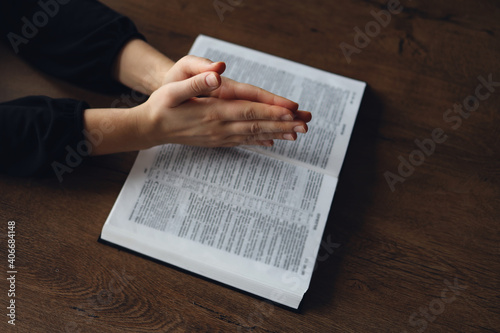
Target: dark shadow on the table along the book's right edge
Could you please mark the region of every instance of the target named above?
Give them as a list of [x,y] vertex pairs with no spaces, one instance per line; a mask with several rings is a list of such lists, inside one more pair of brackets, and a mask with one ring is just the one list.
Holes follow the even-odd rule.
[[311,285],[300,311],[322,307],[335,298],[336,280],[350,239],[363,227],[376,181],[375,148],[383,106],[367,87],[339,177],[318,252]]

